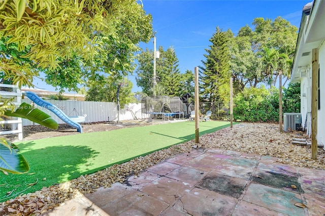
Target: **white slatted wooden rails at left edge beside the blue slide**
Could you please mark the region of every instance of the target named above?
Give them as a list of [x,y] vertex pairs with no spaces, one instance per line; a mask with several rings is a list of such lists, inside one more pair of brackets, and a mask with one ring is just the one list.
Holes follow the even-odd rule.
[[[21,92],[18,86],[0,84],[0,97],[2,98],[14,98],[12,103],[16,106],[21,104]],[[11,117],[8,120],[0,121],[0,124],[8,128],[1,128],[0,134],[12,134],[18,133],[18,139],[22,140],[22,120],[21,118]]]

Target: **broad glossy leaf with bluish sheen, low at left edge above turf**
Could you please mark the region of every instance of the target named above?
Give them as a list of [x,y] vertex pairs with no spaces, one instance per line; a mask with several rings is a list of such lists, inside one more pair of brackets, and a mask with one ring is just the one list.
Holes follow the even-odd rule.
[[14,174],[28,172],[29,165],[21,154],[12,149],[12,143],[7,139],[0,139],[0,170]]

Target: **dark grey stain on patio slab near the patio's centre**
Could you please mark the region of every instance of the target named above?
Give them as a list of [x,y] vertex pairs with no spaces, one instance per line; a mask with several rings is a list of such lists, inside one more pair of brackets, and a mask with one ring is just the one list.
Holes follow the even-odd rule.
[[199,183],[198,187],[214,191],[219,194],[239,198],[244,191],[244,185],[235,182],[230,176],[206,176]]

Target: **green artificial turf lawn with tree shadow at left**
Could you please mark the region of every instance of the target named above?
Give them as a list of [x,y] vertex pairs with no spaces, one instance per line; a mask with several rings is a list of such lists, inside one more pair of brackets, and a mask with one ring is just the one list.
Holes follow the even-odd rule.
[[[200,135],[228,126],[229,122],[200,122]],[[5,175],[0,172],[0,202],[193,138],[195,123],[184,121],[16,143],[29,163],[28,173],[35,174]],[[28,184],[35,182],[37,184],[28,188]]]

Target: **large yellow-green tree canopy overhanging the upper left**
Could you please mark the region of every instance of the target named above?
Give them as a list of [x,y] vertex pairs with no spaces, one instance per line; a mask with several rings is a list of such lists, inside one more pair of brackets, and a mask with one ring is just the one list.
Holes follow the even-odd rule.
[[[1,0],[0,73],[31,86],[40,71],[46,82],[77,83],[132,71],[137,44],[152,35],[152,18],[136,0]],[[16,56],[15,56],[16,55]]]

